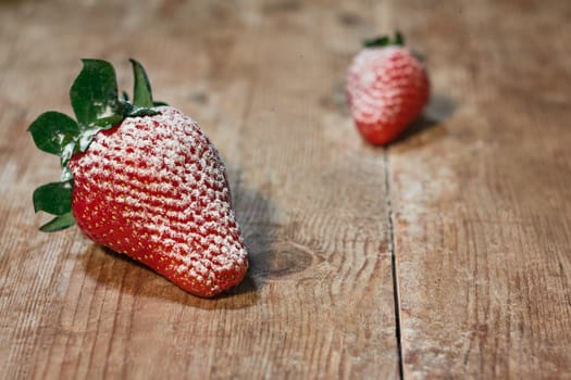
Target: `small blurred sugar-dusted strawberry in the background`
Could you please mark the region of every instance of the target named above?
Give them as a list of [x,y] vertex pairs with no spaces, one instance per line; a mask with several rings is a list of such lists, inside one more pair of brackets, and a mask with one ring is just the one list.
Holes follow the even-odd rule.
[[367,40],[349,66],[349,109],[358,130],[373,144],[395,140],[429,101],[424,65],[404,45],[399,33],[393,40]]

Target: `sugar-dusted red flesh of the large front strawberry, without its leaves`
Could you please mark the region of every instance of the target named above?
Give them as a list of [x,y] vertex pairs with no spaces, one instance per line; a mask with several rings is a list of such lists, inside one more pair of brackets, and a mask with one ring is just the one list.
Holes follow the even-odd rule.
[[158,110],[98,134],[72,159],[74,217],[94,241],[213,295],[248,266],[225,167],[196,122]]

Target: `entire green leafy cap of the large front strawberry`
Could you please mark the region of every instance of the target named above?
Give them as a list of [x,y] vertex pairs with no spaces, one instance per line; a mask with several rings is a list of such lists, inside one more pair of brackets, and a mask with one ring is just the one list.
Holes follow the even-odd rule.
[[60,181],[40,186],[34,191],[34,211],[55,217],[40,227],[41,231],[58,231],[75,224],[72,213],[73,175],[67,163],[77,153],[85,152],[101,130],[121,124],[126,117],[152,116],[160,113],[163,102],[152,100],[152,91],[142,65],[129,60],[133,66],[133,101],[123,92],[117,96],[115,69],[102,60],[84,59],[83,68],[70,89],[75,118],[57,111],[39,115],[28,131],[36,147],[60,157]]

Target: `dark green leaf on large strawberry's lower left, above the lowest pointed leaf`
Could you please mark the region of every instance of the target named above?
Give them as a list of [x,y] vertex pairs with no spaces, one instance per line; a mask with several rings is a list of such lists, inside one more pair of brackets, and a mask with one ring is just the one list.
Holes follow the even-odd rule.
[[51,182],[34,191],[34,211],[63,215],[72,211],[72,180]]

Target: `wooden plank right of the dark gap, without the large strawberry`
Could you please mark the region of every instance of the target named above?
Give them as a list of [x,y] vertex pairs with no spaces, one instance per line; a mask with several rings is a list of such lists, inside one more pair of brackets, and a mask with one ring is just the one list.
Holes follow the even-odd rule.
[[389,151],[405,377],[570,378],[570,3],[388,11],[434,93]]

